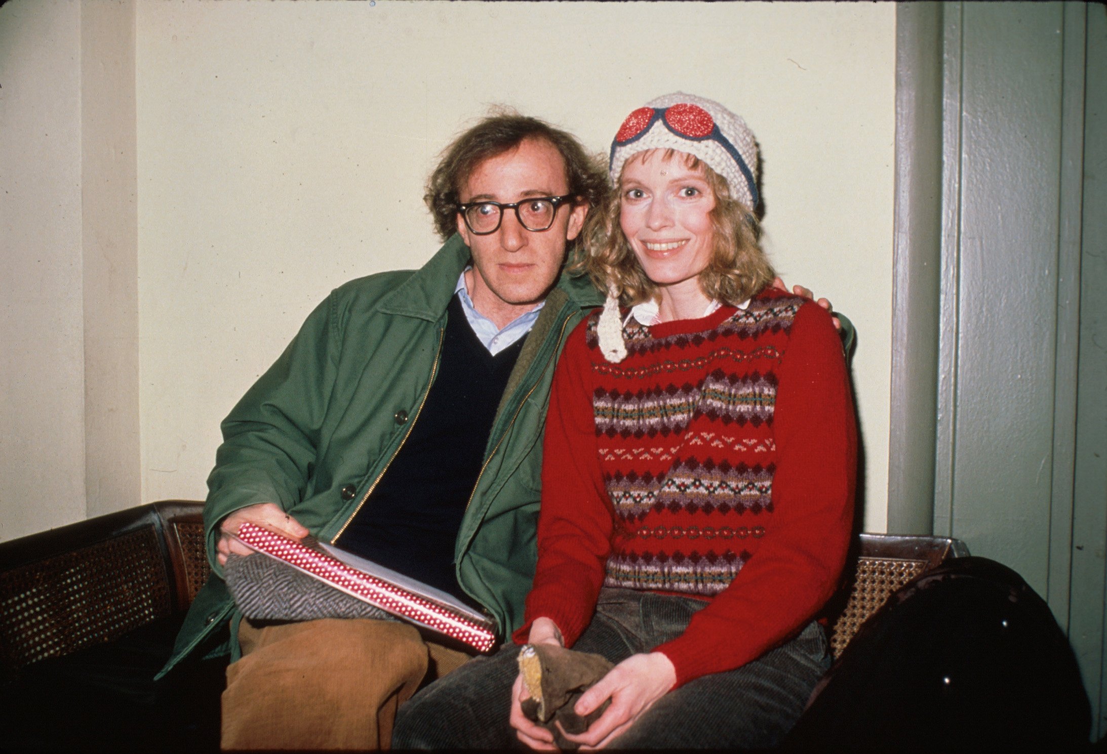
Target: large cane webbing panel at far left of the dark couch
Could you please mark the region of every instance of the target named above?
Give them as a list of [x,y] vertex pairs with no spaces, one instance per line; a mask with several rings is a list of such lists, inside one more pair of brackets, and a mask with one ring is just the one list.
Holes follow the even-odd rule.
[[154,526],[0,573],[0,647],[20,668],[111,641],[170,611]]

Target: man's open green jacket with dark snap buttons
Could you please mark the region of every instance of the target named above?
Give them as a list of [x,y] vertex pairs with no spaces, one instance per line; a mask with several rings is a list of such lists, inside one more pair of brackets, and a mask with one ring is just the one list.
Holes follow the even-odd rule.
[[[204,507],[215,569],[196,596],[166,673],[229,621],[210,653],[238,659],[239,614],[213,554],[218,524],[261,502],[333,542],[366,502],[418,419],[434,381],[446,306],[469,250],[458,235],[421,270],[351,281],[320,304],[223,422]],[[562,274],[527,336],[497,409],[455,545],[457,580],[508,636],[523,622],[537,552],[541,439],[554,366],[573,326],[603,303]],[[343,494],[345,491],[345,494]]]

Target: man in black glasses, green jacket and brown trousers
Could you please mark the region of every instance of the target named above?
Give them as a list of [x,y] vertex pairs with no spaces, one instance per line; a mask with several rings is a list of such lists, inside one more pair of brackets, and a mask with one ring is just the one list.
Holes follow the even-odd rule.
[[396,708],[468,659],[400,621],[242,619],[221,576],[244,522],[441,588],[501,636],[519,625],[554,365],[603,301],[562,266],[606,190],[569,134],[486,118],[431,176],[438,253],[332,292],[224,421],[204,511],[217,575],[163,672],[230,651],[225,748],[386,746]]

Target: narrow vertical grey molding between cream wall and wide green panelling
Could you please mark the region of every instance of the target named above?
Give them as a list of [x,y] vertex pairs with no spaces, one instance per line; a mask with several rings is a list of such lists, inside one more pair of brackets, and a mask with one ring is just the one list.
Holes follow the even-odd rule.
[[888,531],[929,534],[942,222],[942,7],[896,10],[896,206],[892,260]]

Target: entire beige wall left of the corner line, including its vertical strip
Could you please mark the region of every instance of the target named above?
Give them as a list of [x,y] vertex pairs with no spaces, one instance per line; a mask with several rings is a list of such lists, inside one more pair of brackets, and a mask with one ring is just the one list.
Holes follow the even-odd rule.
[[134,10],[0,9],[0,540],[139,501]]

